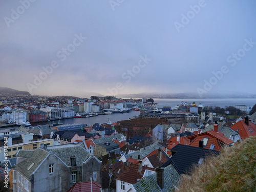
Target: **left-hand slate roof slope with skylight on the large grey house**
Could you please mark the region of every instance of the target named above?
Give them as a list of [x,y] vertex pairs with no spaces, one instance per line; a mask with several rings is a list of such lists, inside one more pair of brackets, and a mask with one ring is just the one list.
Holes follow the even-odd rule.
[[[20,151],[22,152],[22,151]],[[27,178],[30,178],[30,175],[35,171],[35,169],[41,164],[42,161],[48,156],[49,152],[37,148],[35,151],[32,151],[30,158],[18,163],[15,168],[18,169],[22,174]],[[34,163],[34,165],[28,170],[28,167]]]

